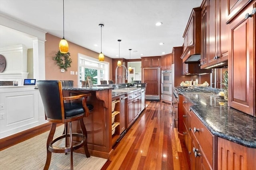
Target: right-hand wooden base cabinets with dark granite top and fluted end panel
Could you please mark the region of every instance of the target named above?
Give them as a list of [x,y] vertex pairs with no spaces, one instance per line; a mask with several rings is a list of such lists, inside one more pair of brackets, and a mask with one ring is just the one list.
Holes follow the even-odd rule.
[[256,167],[256,117],[228,107],[215,93],[181,94],[179,131],[192,168]]

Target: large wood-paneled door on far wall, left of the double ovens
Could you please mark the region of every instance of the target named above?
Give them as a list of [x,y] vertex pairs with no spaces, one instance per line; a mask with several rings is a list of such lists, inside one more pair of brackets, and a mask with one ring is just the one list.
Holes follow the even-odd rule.
[[143,82],[147,83],[146,95],[159,95],[159,68],[144,68]]

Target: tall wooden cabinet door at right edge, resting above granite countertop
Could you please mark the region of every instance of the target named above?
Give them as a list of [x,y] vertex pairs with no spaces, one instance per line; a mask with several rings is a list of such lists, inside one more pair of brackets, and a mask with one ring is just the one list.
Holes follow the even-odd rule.
[[256,14],[245,19],[256,7],[253,0],[230,21],[228,59],[228,103],[230,107],[255,115]]

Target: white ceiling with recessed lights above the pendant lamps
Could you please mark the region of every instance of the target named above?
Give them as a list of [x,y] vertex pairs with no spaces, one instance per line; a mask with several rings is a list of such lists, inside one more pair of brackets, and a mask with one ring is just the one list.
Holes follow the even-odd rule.
[[[100,53],[98,25],[102,23],[105,56],[118,58],[118,39],[122,40],[120,58],[130,58],[128,49],[132,49],[131,59],[161,56],[171,53],[172,47],[182,46],[192,8],[201,3],[202,0],[64,0],[64,35],[67,41]],[[63,37],[62,0],[0,0],[0,13]],[[156,26],[156,22],[163,24]],[[14,45],[12,40],[22,40],[25,45],[26,39],[31,40],[31,36],[2,25],[0,31],[1,47]],[[32,43],[28,43],[30,46]]]

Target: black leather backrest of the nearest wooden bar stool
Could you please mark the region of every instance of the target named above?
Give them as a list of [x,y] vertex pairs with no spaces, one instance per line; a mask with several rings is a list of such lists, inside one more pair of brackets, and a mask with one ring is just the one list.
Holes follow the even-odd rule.
[[36,84],[44,104],[46,117],[56,121],[64,119],[62,82],[58,80],[38,80]]

